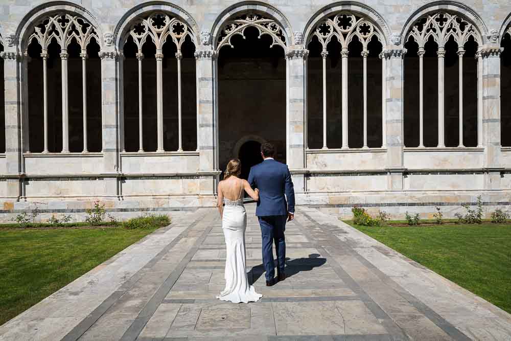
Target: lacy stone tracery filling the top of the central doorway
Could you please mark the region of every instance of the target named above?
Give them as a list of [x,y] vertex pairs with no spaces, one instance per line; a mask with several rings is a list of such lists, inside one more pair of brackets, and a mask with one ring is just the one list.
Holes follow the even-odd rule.
[[234,48],[231,39],[236,35],[241,35],[245,39],[245,30],[254,27],[259,31],[259,38],[263,35],[271,37],[270,48],[281,46],[286,50],[286,36],[281,26],[275,20],[267,18],[258,13],[247,13],[233,20],[230,20],[222,28],[217,42],[217,51],[224,46]]

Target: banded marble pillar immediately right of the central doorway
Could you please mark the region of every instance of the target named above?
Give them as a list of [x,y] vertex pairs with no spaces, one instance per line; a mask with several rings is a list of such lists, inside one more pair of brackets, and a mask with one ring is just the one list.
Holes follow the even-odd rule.
[[308,50],[289,49],[286,56],[289,60],[289,118],[286,125],[289,129],[287,165],[293,177],[296,192],[305,191],[305,84],[306,61]]

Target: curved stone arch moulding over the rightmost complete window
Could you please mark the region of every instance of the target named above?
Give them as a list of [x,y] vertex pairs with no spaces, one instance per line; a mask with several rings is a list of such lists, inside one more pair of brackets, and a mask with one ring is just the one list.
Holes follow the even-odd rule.
[[488,33],[488,29],[482,18],[467,5],[455,1],[444,0],[424,5],[413,12],[401,30],[401,42],[404,43],[408,39],[408,35],[413,30],[414,25],[417,24],[417,20],[427,16],[428,14],[433,15],[435,12],[447,12],[453,13],[454,15],[460,14],[463,19],[468,19],[468,22],[472,24],[472,27],[475,29],[475,34],[473,35],[474,38],[480,46],[484,43],[484,37]]

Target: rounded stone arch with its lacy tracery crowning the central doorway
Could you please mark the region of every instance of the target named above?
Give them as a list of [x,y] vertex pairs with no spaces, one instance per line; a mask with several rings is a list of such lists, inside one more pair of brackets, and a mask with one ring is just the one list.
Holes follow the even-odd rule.
[[[272,7],[271,5],[268,5],[268,4],[265,4],[262,2],[257,2],[257,1],[241,2],[239,4],[236,4],[236,5],[226,8],[222,13],[220,13],[220,15],[216,18],[216,20],[213,24],[213,28],[211,30],[211,37],[208,37],[208,40],[205,41],[206,44],[211,42],[213,47],[216,49],[217,45],[219,44],[220,36],[221,36],[222,32],[224,31],[224,29],[226,28],[226,26],[228,26],[230,24],[230,21],[239,17],[242,14],[247,14],[247,13],[255,13],[258,15],[262,15],[262,17],[267,17],[267,18],[273,19],[274,22],[277,24],[278,29],[280,29],[282,31],[282,34],[285,38],[284,46],[290,45],[290,43],[292,41],[292,29],[291,29],[291,25],[289,24],[288,19],[284,16],[284,14],[282,14],[282,12],[278,11],[276,8]],[[263,22],[261,22],[261,24],[263,24]],[[264,24],[266,25],[267,23],[264,23]],[[246,26],[251,26],[251,25],[246,25]],[[261,30],[267,31],[261,25],[256,26],[256,27],[258,27],[260,32],[261,32]],[[240,27],[240,30],[235,29],[236,32],[233,31],[231,33],[243,34],[243,30],[244,30],[244,28]],[[269,29],[269,30],[271,31],[271,29]],[[269,31],[263,32],[262,34],[266,34],[266,33],[270,33],[270,32]],[[229,38],[227,38],[227,39],[229,39]],[[280,44],[280,42],[276,42],[275,39],[274,39],[274,43]],[[282,46],[282,44],[281,44],[281,46]]]

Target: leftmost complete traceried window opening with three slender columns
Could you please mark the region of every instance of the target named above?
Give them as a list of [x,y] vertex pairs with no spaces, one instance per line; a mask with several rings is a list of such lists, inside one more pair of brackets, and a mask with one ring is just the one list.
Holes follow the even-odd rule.
[[80,16],[58,13],[36,24],[25,51],[31,151],[101,151],[98,53],[96,30]]

